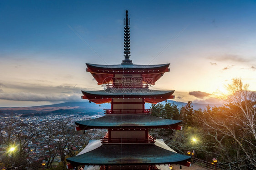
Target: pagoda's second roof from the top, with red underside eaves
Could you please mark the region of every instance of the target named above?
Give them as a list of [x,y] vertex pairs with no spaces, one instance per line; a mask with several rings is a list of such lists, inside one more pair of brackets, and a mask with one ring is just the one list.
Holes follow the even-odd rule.
[[173,93],[174,90],[150,90],[146,88],[82,90],[82,99],[88,99],[96,104],[101,104],[111,102],[112,98],[144,98],[145,102],[155,104],[167,99],[174,99]]

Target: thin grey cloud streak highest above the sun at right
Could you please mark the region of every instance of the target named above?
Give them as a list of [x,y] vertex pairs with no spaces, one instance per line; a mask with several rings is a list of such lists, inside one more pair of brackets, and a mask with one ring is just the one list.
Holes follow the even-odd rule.
[[241,55],[232,55],[232,54],[209,57],[209,59],[216,60],[216,61],[236,61],[236,62],[242,62],[242,63],[251,61]]

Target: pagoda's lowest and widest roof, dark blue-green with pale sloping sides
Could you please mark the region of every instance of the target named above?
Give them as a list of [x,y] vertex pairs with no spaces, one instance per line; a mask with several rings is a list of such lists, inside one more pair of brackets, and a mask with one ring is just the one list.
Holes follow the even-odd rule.
[[72,165],[156,165],[185,164],[190,158],[176,153],[163,140],[148,145],[102,145],[100,140],[90,140],[84,150],[67,161]]

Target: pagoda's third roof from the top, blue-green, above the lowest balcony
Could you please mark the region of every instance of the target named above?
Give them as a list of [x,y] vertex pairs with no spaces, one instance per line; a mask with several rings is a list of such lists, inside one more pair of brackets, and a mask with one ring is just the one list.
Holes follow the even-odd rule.
[[96,119],[76,121],[81,130],[107,128],[170,128],[180,129],[182,120],[163,119],[152,115],[105,115]]

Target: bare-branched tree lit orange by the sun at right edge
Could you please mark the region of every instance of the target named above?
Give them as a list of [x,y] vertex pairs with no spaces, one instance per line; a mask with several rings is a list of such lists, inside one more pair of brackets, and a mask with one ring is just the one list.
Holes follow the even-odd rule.
[[[256,168],[256,92],[248,90],[241,79],[233,79],[228,85],[231,95],[224,99],[225,107],[205,111],[199,119],[223,150],[222,156],[230,165],[244,169]],[[225,142],[226,143],[225,143]],[[227,155],[227,141],[236,148],[234,154]],[[230,148],[231,149],[231,148]]]

